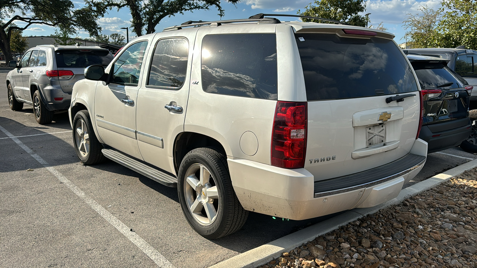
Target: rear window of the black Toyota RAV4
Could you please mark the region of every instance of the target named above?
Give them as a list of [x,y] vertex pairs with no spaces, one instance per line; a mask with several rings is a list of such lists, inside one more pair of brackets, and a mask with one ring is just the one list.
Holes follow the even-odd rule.
[[440,63],[413,62],[412,64],[419,83],[426,88],[437,87],[449,82],[453,82],[453,84],[439,88],[453,89],[463,87],[463,83],[456,76],[452,75],[452,71]]

